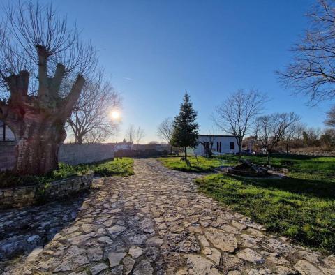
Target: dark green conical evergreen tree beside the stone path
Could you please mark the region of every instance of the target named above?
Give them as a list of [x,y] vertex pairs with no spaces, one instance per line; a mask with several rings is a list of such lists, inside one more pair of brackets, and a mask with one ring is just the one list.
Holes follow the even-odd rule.
[[187,162],[187,147],[195,147],[198,140],[197,112],[192,107],[190,96],[186,93],[180,105],[179,114],[174,117],[171,144],[175,147],[184,147],[185,161]]

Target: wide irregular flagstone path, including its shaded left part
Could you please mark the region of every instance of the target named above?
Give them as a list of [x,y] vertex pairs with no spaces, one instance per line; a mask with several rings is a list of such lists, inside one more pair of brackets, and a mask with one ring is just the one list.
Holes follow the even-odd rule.
[[35,248],[3,259],[0,272],[335,274],[335,255],[267,234],[197,193],[198,176],[139,159],[134,176],[96,179],[86,197],[2,211],[2,257]]

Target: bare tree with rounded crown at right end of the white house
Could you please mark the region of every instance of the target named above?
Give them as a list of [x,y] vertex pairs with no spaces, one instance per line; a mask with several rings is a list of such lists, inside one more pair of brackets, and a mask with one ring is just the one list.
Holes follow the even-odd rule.
[[236,137],[241,157],[244,136],[253,130],[253,122],[263,109],[267,97],[257,90],[238,90],[218,105],[213,116],[215,124]]

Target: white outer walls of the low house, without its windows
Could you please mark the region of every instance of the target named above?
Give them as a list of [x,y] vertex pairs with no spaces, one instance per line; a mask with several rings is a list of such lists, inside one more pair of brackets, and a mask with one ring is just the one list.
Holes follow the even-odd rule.
[[[218,152],[221,154],[237,154],[239,153],[239,147],[237,146],[237,141],[234,136],[225,135],[225,136],[214,136],[211,137],[213,141],[213,148],[212,151]],[[209,137],[205,135],[200,135],[198,138],[198,142],[209,142]],[[221,152],[219,151],[220,148],[217,147],[217,142],[221,142]],[[230,142],[234,142],[234,149],[230,149]],[[204,146],[199,143],[197,147],[193,149],[194,154],[198,155],[205,155],[206,152],[204,150]]]

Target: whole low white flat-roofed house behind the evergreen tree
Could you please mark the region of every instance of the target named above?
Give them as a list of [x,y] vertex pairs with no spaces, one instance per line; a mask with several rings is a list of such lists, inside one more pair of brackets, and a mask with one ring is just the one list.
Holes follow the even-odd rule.
[[191,149],[190,153],[206,155],[205,146],[209,148],[213,144],[211,151],[214,154],[238,154],[239,147],[234,135],[199,135],[198,145]]

